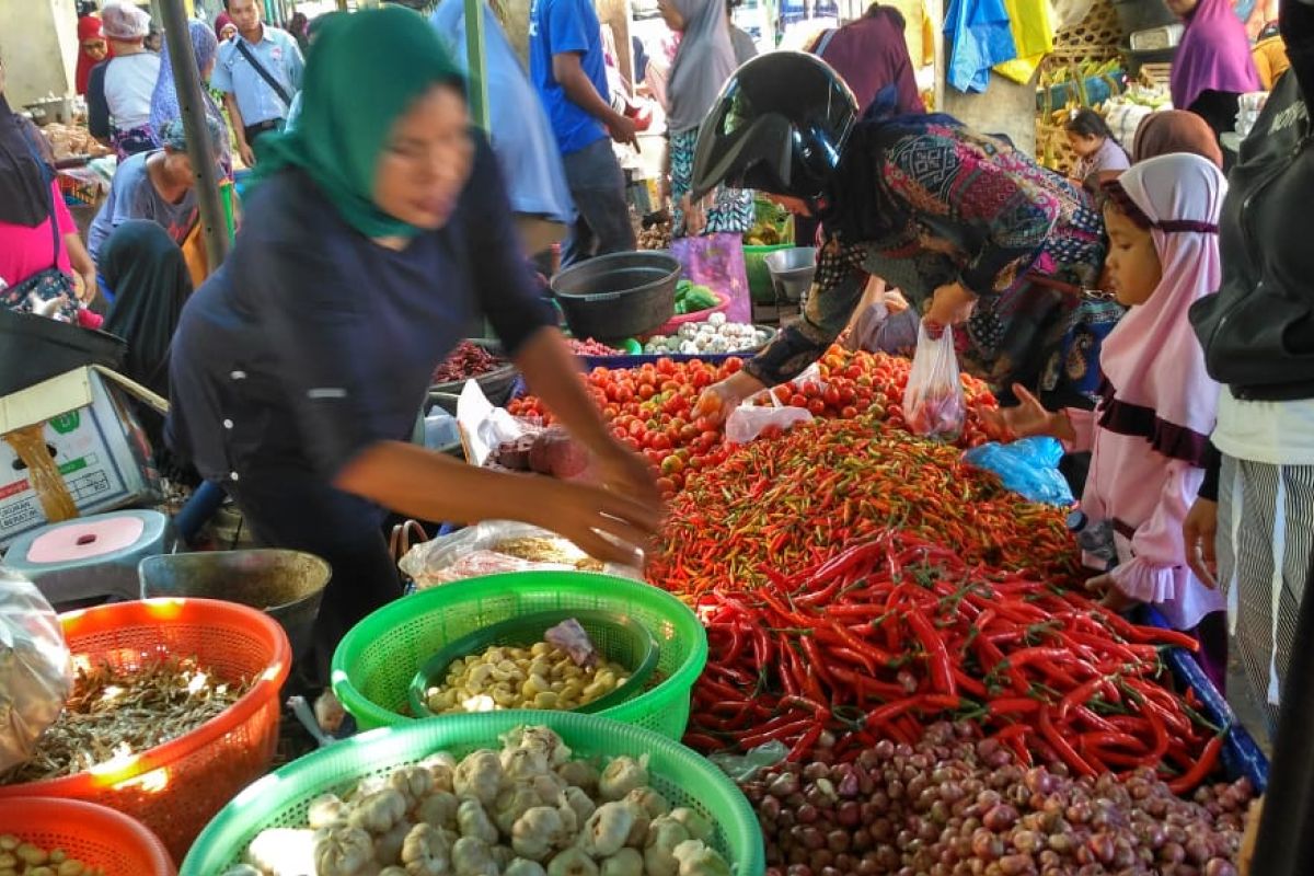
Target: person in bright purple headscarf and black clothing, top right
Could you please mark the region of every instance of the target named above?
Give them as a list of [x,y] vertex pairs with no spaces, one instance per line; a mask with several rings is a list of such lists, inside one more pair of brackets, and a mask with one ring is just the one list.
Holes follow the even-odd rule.
[[1261,88],[1246,25],[1231,0],[1167,3],[1187,22],[1168,80],[1173,108],[1196,113],[1215,134],[1234,130],[1240,96]]

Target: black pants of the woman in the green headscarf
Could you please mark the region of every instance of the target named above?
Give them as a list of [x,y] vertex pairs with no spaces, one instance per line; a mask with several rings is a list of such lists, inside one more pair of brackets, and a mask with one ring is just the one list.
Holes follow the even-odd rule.
[[305,550],[328,562],[332,579],[315,621],[314,647],[297,672],[328,683],[334,649],[357,621],[402,595],[388,550],[382,508],[335,490],[306,470],[256,470],[223,489],[265,548]]

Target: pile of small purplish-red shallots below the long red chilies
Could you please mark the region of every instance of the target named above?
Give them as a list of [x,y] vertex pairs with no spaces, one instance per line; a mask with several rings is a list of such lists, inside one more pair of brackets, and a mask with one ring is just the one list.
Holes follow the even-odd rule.
[[787,763],[744,785],[767,876],[1235,876],[1247,780],[1175,796],[1152,772],[1024,768],[968,724],[854,763]]

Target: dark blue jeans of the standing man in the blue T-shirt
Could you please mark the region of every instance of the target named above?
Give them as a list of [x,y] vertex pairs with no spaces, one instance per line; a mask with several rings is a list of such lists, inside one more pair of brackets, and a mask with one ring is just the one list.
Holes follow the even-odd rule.
[[629,205],[625,202],[625,176],[620,172],[611,139],[602,138],[582,150],[561,156],[566,168],[566,184],[574,198],[576,218],[570,235],[561,246],[561,267],[604,256],[608,252],[628,252],[637,243],[629,225]]

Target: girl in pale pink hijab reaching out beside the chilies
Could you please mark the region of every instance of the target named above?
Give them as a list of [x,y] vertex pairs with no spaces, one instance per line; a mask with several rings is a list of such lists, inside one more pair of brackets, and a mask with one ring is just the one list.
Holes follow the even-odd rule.
[[1018,436],[1053,435],[1070,452],[1091,450],[1081,510],[1108,524],[1117,565],[1089,586],[1110,608],[1150,603],[1175,629],[1197,630],[1201,663],[1221,682],[1223,598],[1192,574],[1181,525],[1205,475],[1218,402],[1187,311],[1219,285],[1227,183],[1210,162],[1179,154],[1134,165],[1104,192],[1108,268],[1130,310],[1104,340],[1102,399],[1093,411],[1051,414],[1014,386],[1022,405],[1003,419]]

